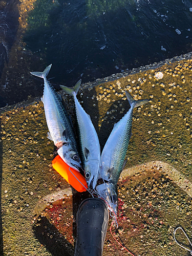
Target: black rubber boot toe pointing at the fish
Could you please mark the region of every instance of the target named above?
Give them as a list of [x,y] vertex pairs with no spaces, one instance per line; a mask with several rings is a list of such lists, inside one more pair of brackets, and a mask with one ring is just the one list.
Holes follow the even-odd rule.
[[84,200],[77,212],[77,241],[74,256],[101,256],[109,213],[103,200]]

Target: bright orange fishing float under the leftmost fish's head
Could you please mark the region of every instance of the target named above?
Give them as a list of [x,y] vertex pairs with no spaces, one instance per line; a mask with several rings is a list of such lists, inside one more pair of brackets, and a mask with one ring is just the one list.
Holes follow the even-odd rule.
[[67,165],[59,155],[53,159],[52,166],[78,192],[87,190],[86,179],[77,170]]

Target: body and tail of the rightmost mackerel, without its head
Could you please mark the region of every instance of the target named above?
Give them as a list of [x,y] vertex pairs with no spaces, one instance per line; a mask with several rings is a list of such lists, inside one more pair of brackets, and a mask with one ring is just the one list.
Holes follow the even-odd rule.
[[106,141],[102,154],[100,177],[113,184],[117,184],[120,174],[126,164],[125,155],[132,135],[133,109],[147,103],[149,100],[134,100],[126,91],[127,100],[131,108],[119,122],[117,122]]

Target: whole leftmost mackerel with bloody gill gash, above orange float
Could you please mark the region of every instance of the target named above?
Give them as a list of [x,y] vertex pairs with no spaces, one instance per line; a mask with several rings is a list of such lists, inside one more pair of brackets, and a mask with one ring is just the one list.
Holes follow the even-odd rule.
[[44,95],[41,100],[44,103],[49,129],[48,138],[57,146],[57,152],[62,160],[79,172],[82,166],[75,134],[69,115],[62,104],[61,96],[58,95],[51,83],[47,80],[50,69],[51,65],[44,72],[30,72],[32,75],[44,79]]

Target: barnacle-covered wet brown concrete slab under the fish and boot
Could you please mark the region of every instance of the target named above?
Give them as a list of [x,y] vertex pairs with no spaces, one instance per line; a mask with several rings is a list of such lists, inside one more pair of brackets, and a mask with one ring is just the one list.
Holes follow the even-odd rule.
[[[151,99],[134,110],[119,180],[119,228],[112,229],[135,255],[189,255],[174,242],[173,230],[182,225],[191,238],[191,81],[188,54],[83,84],[78,94],[102,148],[129,109],[125,90],[135,99]],[[61,95],[75,121],[72,98]],[[73,255],[76,212],[89,195],[75,193],[51,167],[55,148],[40,98],[7,106],[0,118],[3,254]],[[125,254],[108,231],[103,255]]]

